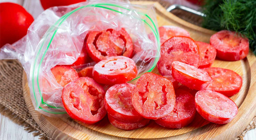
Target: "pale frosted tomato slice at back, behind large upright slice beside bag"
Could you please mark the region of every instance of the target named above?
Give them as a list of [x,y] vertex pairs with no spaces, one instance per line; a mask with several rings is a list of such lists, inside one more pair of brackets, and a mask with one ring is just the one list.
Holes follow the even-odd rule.
[[[183,28],[177,26],[161,26],[159,27],[159,35],[160,35],[160,43],[163,44],[166,40],[173,36],[186,36],[190,37],[188,31]],[[155,35],[153,33],[149,34],[149,38],[151,40],[155,39]]]

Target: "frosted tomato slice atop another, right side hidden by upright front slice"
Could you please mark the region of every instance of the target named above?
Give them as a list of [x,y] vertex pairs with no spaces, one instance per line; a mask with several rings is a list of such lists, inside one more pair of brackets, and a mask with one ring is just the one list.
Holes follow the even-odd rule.
[[137,123],[144,119],[132,105],[133,87],[133,84],[123,83],[111,86],[107,90],[104,103],[108,114],[129,123]]

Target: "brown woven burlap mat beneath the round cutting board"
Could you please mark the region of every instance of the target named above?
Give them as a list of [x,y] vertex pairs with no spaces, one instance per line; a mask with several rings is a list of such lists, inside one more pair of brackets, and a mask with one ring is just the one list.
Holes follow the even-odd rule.
[[[155,1],[155,0],[152,0]],[[164,7],[169,7],[167,2],[160,2]],[[190,13],[184,13],[182,10],[172,11],[176,16],[199,25],[202,19],[199,16]],[[46,133],[38,126],[28,111],[22,89],[22,71],[23,68],[17,60],[0,60],[0,113],[12,119],[17,124],[23,125],[28,132],[33,132],[34,136],[40,136],[41,139],[50,139]],[[243,140],[245,133],[256,127],[256,116],[244,131],[235,139]]]

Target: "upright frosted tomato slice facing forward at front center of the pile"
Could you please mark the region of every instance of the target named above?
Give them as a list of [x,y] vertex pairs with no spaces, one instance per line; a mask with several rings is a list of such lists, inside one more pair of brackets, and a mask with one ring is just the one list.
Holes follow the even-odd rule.
[[173,85],[165,77],[146,72],[132,90],[132,104],[146,119],[162,118],[174,109]]

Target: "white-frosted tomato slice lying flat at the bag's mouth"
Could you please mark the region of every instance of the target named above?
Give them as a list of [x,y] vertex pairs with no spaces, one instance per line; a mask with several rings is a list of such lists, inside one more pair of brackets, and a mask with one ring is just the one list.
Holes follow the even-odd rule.
[[100,61],[93,67],[93,79],[99,83],[114,85],[128,82],[138,71],[134,61],[124,56],[113,56]]

